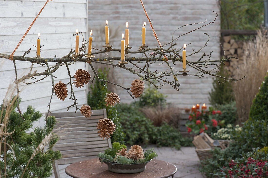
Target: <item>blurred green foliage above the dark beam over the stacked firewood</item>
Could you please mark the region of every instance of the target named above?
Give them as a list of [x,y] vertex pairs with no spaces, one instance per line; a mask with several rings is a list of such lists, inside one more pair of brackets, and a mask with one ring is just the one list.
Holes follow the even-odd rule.
[[221,29],[255,30],[263,24],[263,1],[223,0]]

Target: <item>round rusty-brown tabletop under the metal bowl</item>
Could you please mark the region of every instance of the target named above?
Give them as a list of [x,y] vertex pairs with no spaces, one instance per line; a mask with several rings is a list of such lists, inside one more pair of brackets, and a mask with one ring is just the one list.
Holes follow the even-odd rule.
[[160,160],[152,160],[146,165],[143,172],[134,174],[118,174],[108,170],[105,163],[101,163],[98,158],[75,162],[65,169],[66,174],[74,178],[166,178],[176,173],[177,168],[173,164]]

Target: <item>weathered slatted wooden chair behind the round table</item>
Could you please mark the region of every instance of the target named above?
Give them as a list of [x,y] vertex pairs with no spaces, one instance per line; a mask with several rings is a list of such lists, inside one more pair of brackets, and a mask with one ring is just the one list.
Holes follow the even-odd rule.
[[99,152],[112,147],[111,140],[100,138],[96,129],[98,120],[107,118],[106,109],[92,110],[90,118],[85,118],[80,112],[49,115],[58,120],[54,132],[60,139],[53,149],[62,153],[62,159],[53,164],[55,178],[60,178],[58,165],[96,158]]

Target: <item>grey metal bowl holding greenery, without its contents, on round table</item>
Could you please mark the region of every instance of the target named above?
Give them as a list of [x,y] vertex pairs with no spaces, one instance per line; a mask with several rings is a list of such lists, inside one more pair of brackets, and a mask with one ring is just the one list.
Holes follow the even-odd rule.
[[115,173],[120,174],[132,174],[132,173],[138,173],[142,172],[146,168],[146,164],[150,161],[141,163],[141,164],[117,164],[114,162],[107,161],[106,159],[99,158],[101,162],[105,162],[105,164],[108,166],[108,170]]

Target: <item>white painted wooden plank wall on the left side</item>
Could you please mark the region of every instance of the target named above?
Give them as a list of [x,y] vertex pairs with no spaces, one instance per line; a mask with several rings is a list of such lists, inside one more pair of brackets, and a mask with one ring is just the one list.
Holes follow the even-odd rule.
[[[0,53],[11,54],[17,46],[21,37],[28,29],[33,19],[43,7],[45,0],[0,0]],[[27,56],[35,56],[37,34],[41,34],[41,55],[42,57],[62,57],[75,47],[76,28],[86,37],[87,33],[87,0],[53,0],[49,2],[39,18],[25,37],[23,43],[18,48],[15,55],[23,55],[24,51],[31,48]],[[82,38],[80,36],[80,43]],[[18,78],[29,73],[31,63],[17,61]],[[77,62],[70,67],[71,74],[77,69],[85,69],[85,64]],[[46,70],[46,66],[34,65],[33,71],[38,72]],[[62,80],[69,81],[66,67],[62,66],[58,71],[53,73],[55,83]],[[13,83],[15,78],[13,62],[6,59],[0,59],[0,101],[4,99],[7,91],[16,89]],[[28,80],[30,81],[30,80]],[[50,100],[52,84],[51,77],[30,85],[21,84],[20,97],[21,110],[25,111],[28,105],[32,105],[42,113],[47,112],[47,105]],[[16,92],[14,93],[16,94]],[[68,86],[70,95],[70,86]],[[78,104],[81,106],[86,103],[86,87],[82,89],[75,88],[75,95]],[[54,95],[51,103],[51,111],[66,111],[68,105],[73,101],[60,101]],[[43,121],[36,123],[42,125]]]

